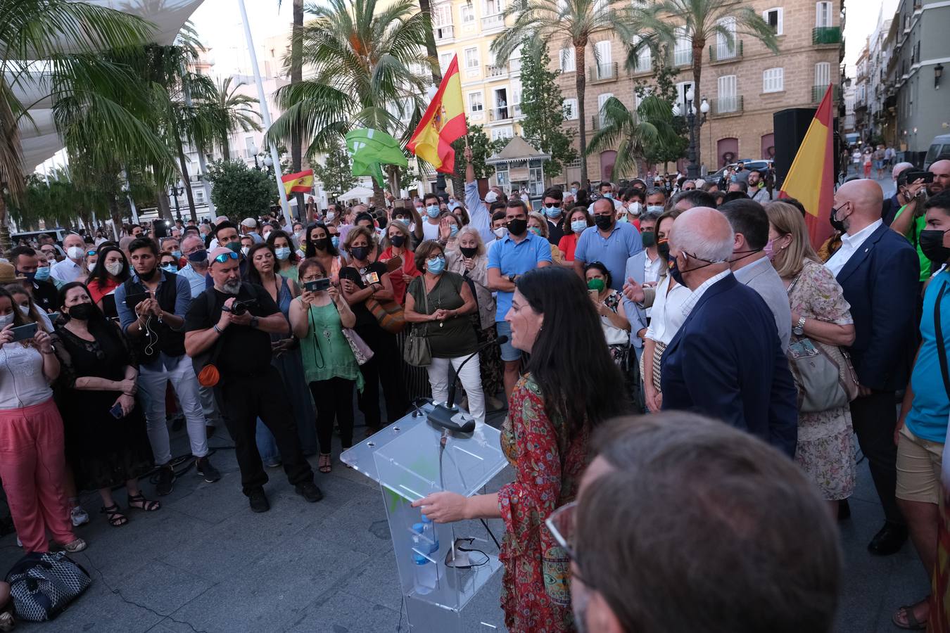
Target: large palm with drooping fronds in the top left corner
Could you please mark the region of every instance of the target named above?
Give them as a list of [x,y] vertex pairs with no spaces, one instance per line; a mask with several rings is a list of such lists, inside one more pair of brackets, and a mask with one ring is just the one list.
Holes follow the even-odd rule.
[[[0,188],[12,201],[25,192],[20,126],[32,125],[28,110],[47,102],[57,130],[77,119],[98,135],[84,148],[160,155],[161,143],[123,102],[136,103],[135,77],[101,51],[141,47],[152,34],[144,20],[122,11],[72,0],[0,0]],[[117,98],[118,97],[118,98]],[[0,195],[0,247],[10,245],[7,203]]]

